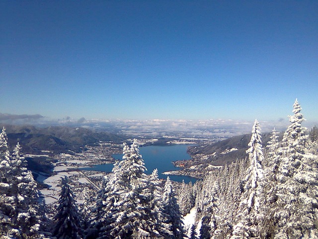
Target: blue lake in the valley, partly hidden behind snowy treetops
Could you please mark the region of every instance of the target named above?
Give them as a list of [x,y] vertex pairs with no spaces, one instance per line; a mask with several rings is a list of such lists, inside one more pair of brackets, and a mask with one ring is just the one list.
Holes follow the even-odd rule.
[[[167,175],[162,174],[165,171],[179,170],[180,168],[174,167],[172,161],[190,159],[187,153],[187,148],[190,145],[168,145],[168,146],[146,146],[140,147],[140,153],[145,161],[145,166],[148,169],[147,174],[151,174],[155,168],[158,169],[159,178],[166,179]],[[113,154],[115,159],[121,160],[123,154]],[[83,170],[95,170],[102,172],[111,172],[113,164],[99,164],[92,167],[82,168]],[[179,175],[169,175],[170,179],[177,182],[189,183],[196,181],[195,178]]]

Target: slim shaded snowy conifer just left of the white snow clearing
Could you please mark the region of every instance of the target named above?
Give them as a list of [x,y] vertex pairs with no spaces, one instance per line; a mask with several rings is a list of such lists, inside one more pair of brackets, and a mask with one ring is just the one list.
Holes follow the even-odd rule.
[[182,216],[180,213],[179,205],[177,204],[175,198],[173,185],[169,177],[167,177],[167,180],[164,184],[162,202],[164,213],[168,215],[165,223],[170,226],[170,232],[172,233],[169,238],[183,239],[185,237],[185,232],[183,229]]

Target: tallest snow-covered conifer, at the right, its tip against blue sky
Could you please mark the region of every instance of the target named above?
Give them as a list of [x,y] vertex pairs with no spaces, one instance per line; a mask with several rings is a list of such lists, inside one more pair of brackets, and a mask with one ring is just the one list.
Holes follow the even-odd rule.
[[305,120],[297,99],[279,148],[275,239],[318,238],[318,158],[308,152]]

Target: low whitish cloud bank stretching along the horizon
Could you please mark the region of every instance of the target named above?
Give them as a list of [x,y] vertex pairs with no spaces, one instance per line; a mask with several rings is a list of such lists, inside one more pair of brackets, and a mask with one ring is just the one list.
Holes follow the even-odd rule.
[[[185,132],[189,137],[231,137],[251,131],[253,121],[234,119],[206,119],[206,120],[102,120],[102,119],[49,119],[41,115],[10,115],[0,113],[0,123],[31,124],[35,126],[64,125],[75,127],[90,127],[97,130],[107,130],[127,134],[149,134],[154,136],[172,135],[175,132]],[[262,132],[271,132],[275,127],[278,131],[285,131],[289,125],[288,119],[272,121],[259,120]],[[305,121],[304,125],[311,128],[317,122]]]

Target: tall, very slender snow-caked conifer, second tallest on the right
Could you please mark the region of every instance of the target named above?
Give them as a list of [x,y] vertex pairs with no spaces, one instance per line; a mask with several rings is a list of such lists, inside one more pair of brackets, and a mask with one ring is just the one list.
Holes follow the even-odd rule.
[[263,219],[263,161],[262,138],[258,121],[255,119],[252,136],[248,143],[248,168],[242,182],[241,202],[238,209],[238,222],[234,227],[231,239],[258,237],[258,224]]

